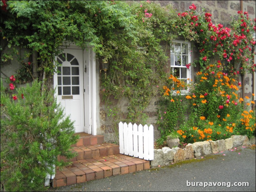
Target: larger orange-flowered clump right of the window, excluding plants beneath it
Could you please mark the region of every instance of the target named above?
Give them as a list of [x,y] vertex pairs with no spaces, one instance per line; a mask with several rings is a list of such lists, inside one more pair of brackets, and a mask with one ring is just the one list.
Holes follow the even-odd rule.
[[237,74],[223,71],[218,61],[197,73],[189,92],[188,120],[180,127],[186,143],[255,134],[255,111],[250,110],[253,101],[238,96],[241,83]]

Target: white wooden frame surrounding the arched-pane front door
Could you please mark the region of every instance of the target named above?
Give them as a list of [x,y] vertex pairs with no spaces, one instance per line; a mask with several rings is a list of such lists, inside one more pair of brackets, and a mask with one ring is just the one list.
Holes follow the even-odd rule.
[[[61,49],[82,49],[79,46],[76,46],[74,43],[63,43]],[[88,54],[88,55],[86,55]],[[88,61],[87,59],[88,58]],[[97,134],[97,123],[96,123],[96,60],[95,60],[95,52],[93,51],[91,46],[87,46],[86,49],[83,50],[83,80],[85,78],[85,65],[86,71],[89,76],[89,130],[88,133],[92,135]],[[54,74],[54,87],[57,86],[57,74]],[[83,89],[85,89],[85,85],[83,83]],[[56,92],[57,96],[57,92]],[[85,105],[85,97],[84,97],[84,105]],[[85,117],[84,117],[85,119]],[[85,131],[85,130],[84,130]]]

